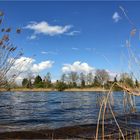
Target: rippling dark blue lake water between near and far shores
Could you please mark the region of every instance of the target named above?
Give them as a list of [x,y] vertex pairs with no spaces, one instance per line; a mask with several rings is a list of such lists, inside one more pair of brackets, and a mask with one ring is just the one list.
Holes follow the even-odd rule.
[[[59,128],[96,123],[101,92],[1,92],[0,131]],[[114,111],[123,94],[114,92]],[[140,109],[140,97],[136,97]]]

